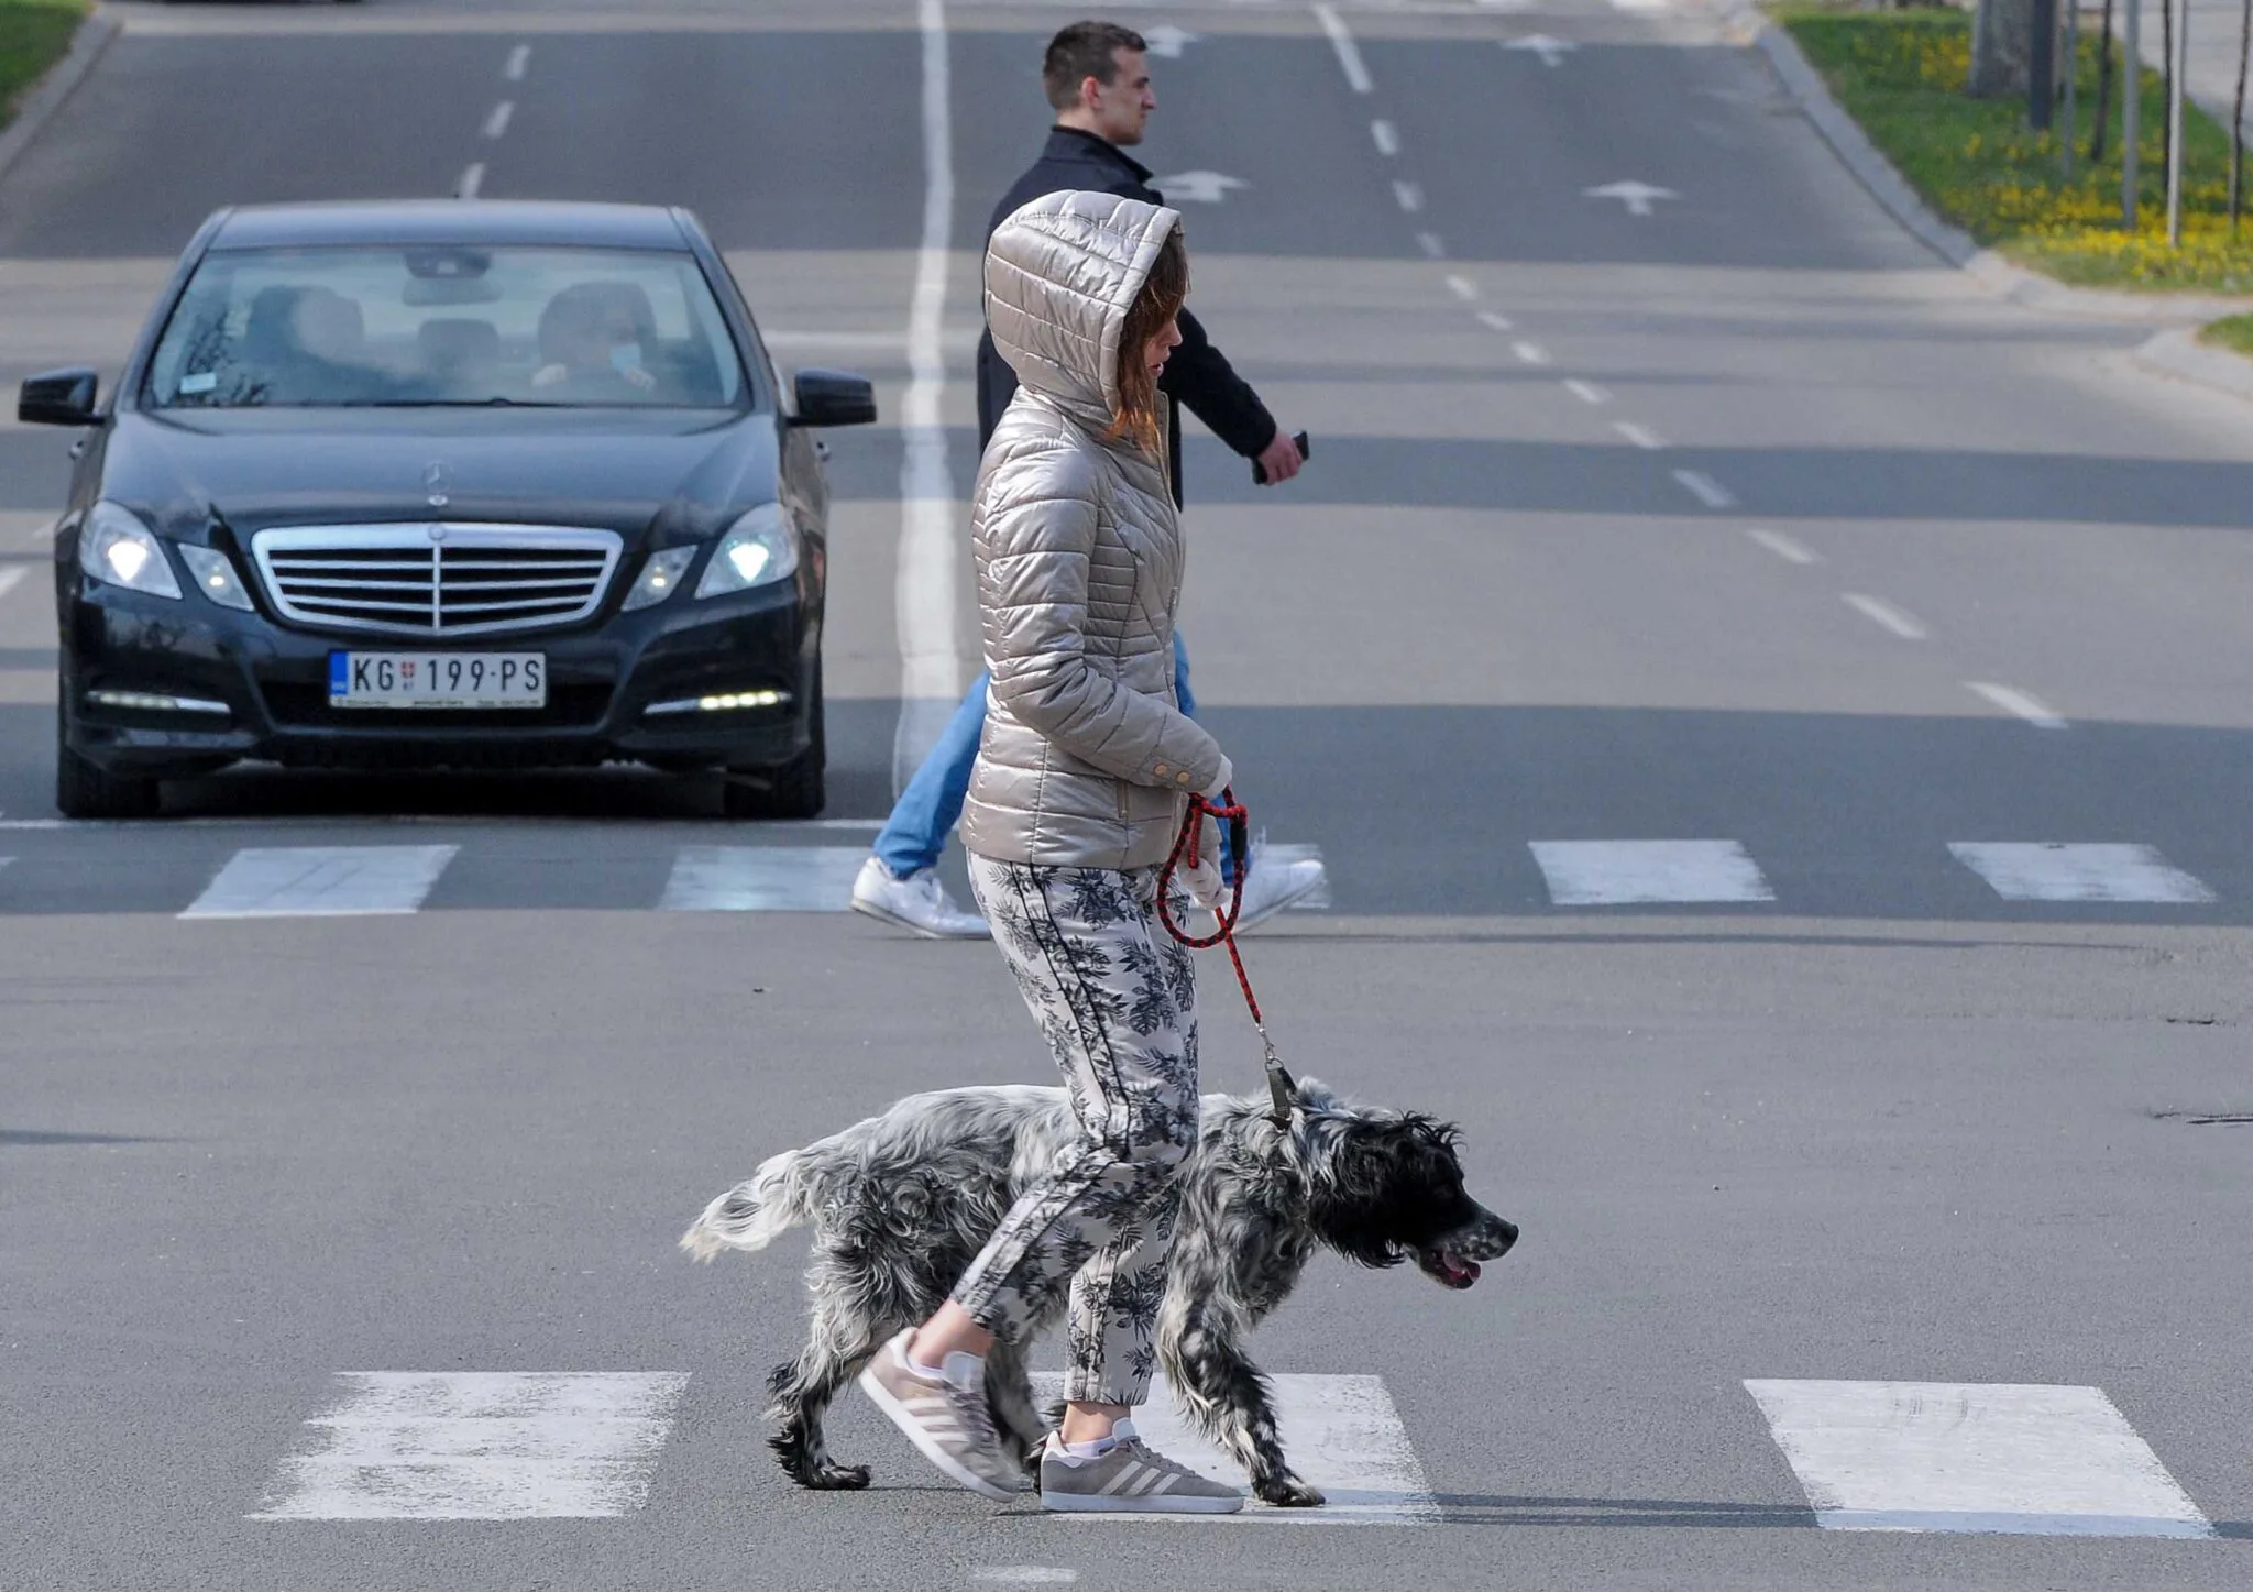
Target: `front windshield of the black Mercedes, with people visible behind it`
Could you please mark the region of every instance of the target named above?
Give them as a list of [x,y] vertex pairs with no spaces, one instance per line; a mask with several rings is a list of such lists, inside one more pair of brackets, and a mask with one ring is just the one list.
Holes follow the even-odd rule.
[[207,254],[144,403],[737,408],[746,390],[685,252],[304,248]]

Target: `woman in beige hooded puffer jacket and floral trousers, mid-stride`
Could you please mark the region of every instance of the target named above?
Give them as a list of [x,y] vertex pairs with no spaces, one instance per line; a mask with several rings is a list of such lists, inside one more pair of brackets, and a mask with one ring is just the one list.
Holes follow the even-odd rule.
[[[1158,374],[1190,293],[1181,216],[1113,194],[1036,198],[994,232],[985,286],[1018,392],[971,513],[994,685],[962,844],[1079,1139],[861,1385],[940,1470],[1014,1497],[985,1356],[1070,1290],[1041,1502],[1230,1513],[1235,1488],[1151,1452],[1129,1419],[1156,1365],[1174,1173],[1196,1142],[1196,975],[1158,928],[1158,874],[1185,799],[1230,777],[1174,703],[1183,545]],[[1221,901],[1217,853],[1214,838],[1181,876],[1199,905]]]

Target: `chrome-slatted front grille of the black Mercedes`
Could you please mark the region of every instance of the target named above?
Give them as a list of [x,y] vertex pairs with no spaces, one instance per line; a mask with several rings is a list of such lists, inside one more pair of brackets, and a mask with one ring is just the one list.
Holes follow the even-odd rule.
[[313,525],[259,531],[250,556],[284,619],[383,635],[502,635],[577,624],[624,538],[547,525]]

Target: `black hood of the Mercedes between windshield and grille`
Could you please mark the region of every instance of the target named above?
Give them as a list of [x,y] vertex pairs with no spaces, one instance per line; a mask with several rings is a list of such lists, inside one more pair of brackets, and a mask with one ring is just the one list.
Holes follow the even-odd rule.
[[119,414],[101,495],[182,540],[214,522],[493,520],[710,536],[775,498],[771,414],[228,410]]

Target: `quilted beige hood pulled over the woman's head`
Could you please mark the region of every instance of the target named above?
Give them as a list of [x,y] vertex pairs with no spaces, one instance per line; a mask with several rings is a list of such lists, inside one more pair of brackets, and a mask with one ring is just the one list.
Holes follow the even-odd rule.
[[1120,408],[1120,329],[1178,209],[1117,194],[1048,194],[987,243],[987,327],[1032,387],[1108,423]]

